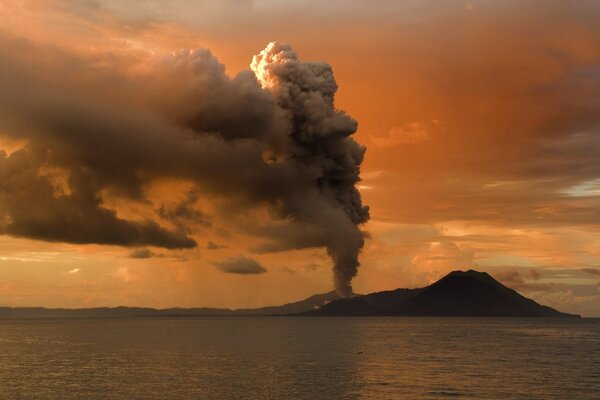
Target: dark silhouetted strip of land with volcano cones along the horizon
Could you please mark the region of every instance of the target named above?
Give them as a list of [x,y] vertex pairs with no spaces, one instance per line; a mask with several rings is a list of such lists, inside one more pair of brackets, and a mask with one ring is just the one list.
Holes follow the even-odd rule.
[[418,289],[396,289],[339,298],[316,294],[280,306],[227,308],[43,308],[0,307],[0,318],[130,318],[195,316],[446,316],[446,317],[579,317],[540,305],[485,272],[454,271]]

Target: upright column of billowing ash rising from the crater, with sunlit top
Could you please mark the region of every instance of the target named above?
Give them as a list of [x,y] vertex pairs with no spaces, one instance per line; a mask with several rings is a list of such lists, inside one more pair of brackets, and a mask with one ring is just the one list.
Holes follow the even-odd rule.
[[[337,84],[324,62],[301,62],[291,46],[271,42],[254,56],[251,68],[263,88],[275,97],[290,125],[290,156],[300,168],[318,168],[320,201],[306,203],[326,232],[326,246],[334,261],[334,281],[341,296],[352,293],[351,281],[359,267],[363,235],[358,225],[369,219],[355,184],[366,148],[350,136],[357,122],[334,108]],[[296,210],[307,216],[306,210]]]

